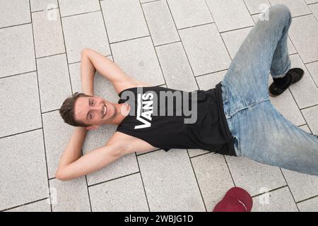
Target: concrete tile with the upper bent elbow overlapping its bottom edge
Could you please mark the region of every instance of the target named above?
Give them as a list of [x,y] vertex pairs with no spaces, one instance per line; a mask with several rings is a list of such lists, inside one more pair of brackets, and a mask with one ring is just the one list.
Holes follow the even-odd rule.
[[110,55],[110,45],[100,11],[62,18],[69,63],[81,60],[81,50],[91,48],[104,56]]

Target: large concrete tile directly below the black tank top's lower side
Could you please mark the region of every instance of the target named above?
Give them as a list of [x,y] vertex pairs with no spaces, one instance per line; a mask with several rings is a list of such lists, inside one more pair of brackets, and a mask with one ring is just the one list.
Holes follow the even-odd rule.
[[150,210],[205,211],[186,150],[139,155]]

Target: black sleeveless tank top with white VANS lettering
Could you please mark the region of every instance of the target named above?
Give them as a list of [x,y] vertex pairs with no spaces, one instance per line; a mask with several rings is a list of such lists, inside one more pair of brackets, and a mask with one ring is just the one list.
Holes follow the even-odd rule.
[[[128,102],[130,111],[116,131],[140,138],[165,151],[170,148],[199,148],[236,155],[223,111],[220,83],[216,88],[193,92],[160,86],[134,87],[122,90],[118,95],[118,103]],[[196,117],[192,100],[197,103]],[[188,123],[184,123],[185,120]]]

